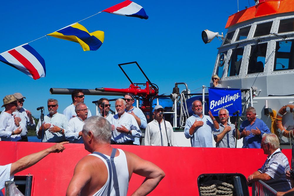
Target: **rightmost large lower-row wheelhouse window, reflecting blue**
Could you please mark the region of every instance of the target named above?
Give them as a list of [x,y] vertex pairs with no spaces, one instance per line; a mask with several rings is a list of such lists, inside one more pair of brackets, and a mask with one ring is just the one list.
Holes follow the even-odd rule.
[[275,63],[273,71],[294,69],[294,40],[277,41],[275,49]]

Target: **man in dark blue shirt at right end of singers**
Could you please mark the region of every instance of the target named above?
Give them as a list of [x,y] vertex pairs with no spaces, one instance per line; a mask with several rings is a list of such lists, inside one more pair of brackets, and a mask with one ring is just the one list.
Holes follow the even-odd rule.
[[270,133],[268,126],[259,118],[256,118],[256,110],[253,107],[246,109],[246,117],[240,126],[240,138],[243,138],[242,148],[260,148],[261,138],[264,133]]

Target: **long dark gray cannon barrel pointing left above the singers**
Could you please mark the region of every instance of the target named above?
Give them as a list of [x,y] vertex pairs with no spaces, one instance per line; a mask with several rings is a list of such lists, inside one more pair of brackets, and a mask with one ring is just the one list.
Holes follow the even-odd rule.
[[81,89],[81,88],[50,88],[51,95],[71,95],[74,90],[80,89],[84,95],[103,95],[103,96],[124,96],[125,93],[102,92],[95,89]]

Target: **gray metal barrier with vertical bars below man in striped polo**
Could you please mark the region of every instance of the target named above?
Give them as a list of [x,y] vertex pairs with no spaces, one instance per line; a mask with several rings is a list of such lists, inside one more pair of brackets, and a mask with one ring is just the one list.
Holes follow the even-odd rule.
[[265,184],[265,182],[258,180],[252,184],[252,196],[276,196],[277,191]]

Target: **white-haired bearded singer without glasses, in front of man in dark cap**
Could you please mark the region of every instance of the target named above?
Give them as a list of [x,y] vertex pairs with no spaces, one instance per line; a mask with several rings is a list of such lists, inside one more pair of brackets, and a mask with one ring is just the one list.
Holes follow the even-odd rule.
[[115,130],[112,131],[111,144],[140,145],[138,140],[135,142],[135,138],[140,138],[142,132],[135,117],[125,111],[126,101],[116,100],[115,109],[117,114],[110,120],[111,125],[115,126]]

